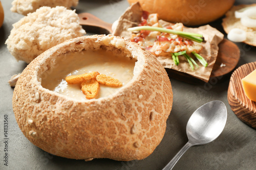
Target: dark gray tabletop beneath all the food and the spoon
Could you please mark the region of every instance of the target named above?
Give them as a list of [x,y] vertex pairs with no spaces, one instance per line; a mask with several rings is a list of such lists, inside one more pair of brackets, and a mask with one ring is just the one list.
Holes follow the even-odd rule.
[[[255,1],[236,1],[252,4]],[[190,148],[177,162],[174,169],[256,169],[256,130],[241,122],[232,112],[227,101],[229,77],[203,85],[192,85],[170,79],[174,92],[173,110],[167,119],[163,140],[143,160],[128,162],[110,159],[66,159],[50,155],[35,147],[20,131],[12,110],[13,88],[8,80],[26,67],[17,62],[4,44],[22,15],[10,12],[11,1],[2,0],[5,11],[4,25],[0,29],[0,169],[162,169],[187,142],[186,123],[190,115],[206,102],[220,100],[227,106],[228,117],[223,133],[213,142]],[[129,6],[125,0],[80,0],[77,13],[89,12],[106,22],[114,22]],[[221,19],[211,22],[212,27],[224,33]],[[226,34],[225,34],[226,37]],[[255,37],[256,38],[256,37]],[[256,47],[237,43],[241,51],[238,66],[256,61]],[[200,92],[204,90],[204,92]],[[4,165],[4,115],[8,115],[8,166]]]

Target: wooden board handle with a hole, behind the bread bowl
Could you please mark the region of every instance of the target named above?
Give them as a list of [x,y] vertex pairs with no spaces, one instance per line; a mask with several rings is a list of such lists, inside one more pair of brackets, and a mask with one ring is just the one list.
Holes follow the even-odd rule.
[[112,34],[111,23],[105,22],[90,13],[80,13],[78,17],[80,18],[80,25],[103,28]]

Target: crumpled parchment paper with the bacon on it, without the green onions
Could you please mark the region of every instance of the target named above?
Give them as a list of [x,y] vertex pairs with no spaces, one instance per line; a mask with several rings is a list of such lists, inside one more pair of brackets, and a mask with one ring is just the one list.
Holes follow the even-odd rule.
[[[184,72],[204,82],[208,82],[218,56],[218,44],[223,40],[224,35],[209,25],[198,28],[188,28],[184,27],[182,23],[175,24],[158,20],[157,14],[150,14],[146,17],[143,14],[145,14],[145,12],[143,12],[140,4],[134,3],[119,17],[113,35],[121,36],[126,40],[134,41],[138,45],[145,47],[146,50],[157,57],[158,61],[165,68]],[[132,32],[128,30],[132,27],[140,26],[202,34],[204,41],[202,43],[192,42],[187,40],[187,38],[156,31],[141,30]],[[200,64],[202,62],[196,60],[195,63],[198,66],[194,63],[197,66],[196,69],[191,68],[191,64],[187,61],[188,57],[183,55],[179,56],[179,64],[176,63],[173,59],[173,53],[183,51],[186,51],[187,55],[194,60],[196,60],[197,56],[193,55],[194,53],[191,54],[191,52],[198,53],[204,58],[208,66],[205,67]]]

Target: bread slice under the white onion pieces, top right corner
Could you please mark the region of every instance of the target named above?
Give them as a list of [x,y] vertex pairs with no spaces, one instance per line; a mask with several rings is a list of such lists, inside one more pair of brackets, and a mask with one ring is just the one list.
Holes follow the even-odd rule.
[[223,18],[222,26],[224,31],[228,34],[230,30],[234,28],[242,29],[246,32],[246,40],[243,41],[249,45],[256,46],[256,28],[248,28],[242,25],[241,19],[234,16],[234,12],[246,7],[255,7],[256,4],[250,5],[238,5],[233,6],[227,13],[226,17]]

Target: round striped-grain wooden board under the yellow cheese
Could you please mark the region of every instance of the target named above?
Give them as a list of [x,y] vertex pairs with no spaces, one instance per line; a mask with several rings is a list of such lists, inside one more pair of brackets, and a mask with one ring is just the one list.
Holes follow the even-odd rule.
[[228,86],[227,99],[234,114],[256,129],[256,102],[247,98],[241,81],[254,69],[256,69],[256,62],[244,64],[233,72]]

